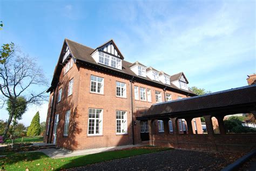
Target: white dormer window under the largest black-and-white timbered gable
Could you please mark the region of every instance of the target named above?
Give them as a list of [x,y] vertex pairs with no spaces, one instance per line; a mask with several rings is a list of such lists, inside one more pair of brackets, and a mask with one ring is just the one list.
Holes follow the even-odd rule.
[[[93,57],[95,57],[95,56],[93,56]],[[99,52],[98,63],[122,70],[122,60],[121,59],[112,57],[103,52]]]

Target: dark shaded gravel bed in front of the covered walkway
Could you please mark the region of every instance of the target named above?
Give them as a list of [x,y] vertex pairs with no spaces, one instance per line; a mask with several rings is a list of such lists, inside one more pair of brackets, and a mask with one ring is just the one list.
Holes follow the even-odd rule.
[[173,149],[68,170],[220,170],[237,156]]

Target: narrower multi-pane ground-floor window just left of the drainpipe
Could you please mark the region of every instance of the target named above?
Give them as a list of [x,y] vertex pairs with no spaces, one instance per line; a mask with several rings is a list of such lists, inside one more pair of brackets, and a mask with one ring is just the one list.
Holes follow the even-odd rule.
[[125,111],[116,111],[117,134],[127,133],[127,115]]

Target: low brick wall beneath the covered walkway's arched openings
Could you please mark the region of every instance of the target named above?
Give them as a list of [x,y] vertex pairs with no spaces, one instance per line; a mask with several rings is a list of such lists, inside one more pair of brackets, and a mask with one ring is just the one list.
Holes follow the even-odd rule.
[[150,145],[207,152],[246,153],[256,149],[256,134],[154,134]]

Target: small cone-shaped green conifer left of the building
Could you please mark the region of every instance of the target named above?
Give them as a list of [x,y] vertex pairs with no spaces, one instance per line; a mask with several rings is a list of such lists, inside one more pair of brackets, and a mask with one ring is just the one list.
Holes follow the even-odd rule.
[[37,135],[40,135],[40,133],[41,133],[40,116],[39,116],[39,112],[37,112],[31,121],[31,124],[29,126],[29,129],[26,135],[37,136]]

